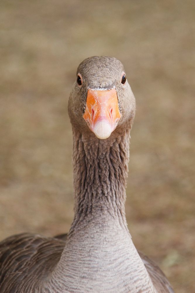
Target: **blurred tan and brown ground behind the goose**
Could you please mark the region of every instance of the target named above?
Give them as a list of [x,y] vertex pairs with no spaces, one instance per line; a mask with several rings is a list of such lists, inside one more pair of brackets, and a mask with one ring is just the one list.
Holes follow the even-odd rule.
[[0,4],[0,239],[68,232],[68,96],[78,64],[125,65],[137,100],[126,214],[136,247],[175,292],[195,292],[193,0]]

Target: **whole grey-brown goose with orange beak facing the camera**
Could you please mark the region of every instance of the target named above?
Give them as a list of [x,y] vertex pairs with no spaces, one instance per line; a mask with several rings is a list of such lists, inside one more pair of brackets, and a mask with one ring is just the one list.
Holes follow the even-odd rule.
[[74,219],[54,238],[23,233],[0,242],[0,293],[173,293],[158,266],[135,248],[125,187],[135,98],[122,63],[80,63],[70,93]]

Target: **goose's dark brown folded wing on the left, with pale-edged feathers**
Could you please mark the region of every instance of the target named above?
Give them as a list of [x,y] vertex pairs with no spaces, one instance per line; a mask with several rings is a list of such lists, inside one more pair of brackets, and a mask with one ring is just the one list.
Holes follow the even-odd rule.
[[21,292],[24,285],[30,288],[42,280],[58,263],[64,246],[59,239],[28,233],[0,242],[0,293]]

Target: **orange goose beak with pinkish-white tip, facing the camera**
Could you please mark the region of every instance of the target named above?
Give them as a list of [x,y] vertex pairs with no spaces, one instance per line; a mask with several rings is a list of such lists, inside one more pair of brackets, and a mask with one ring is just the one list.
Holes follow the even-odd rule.
[[100,139],[108,138],[115,130],[121,115],[116,90],[87,91],[84,120],[89,129]]

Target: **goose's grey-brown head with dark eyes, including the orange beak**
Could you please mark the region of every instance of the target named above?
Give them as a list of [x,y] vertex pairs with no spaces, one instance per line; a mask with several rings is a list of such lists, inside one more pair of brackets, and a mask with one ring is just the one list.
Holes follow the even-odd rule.
[[122,63],[114,57],[93,56],[77,69],[68,103],[73,126],[107,139],[113,132],[130,128],[135,98]]

